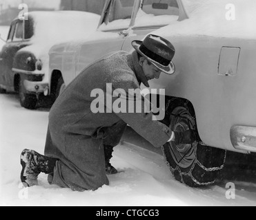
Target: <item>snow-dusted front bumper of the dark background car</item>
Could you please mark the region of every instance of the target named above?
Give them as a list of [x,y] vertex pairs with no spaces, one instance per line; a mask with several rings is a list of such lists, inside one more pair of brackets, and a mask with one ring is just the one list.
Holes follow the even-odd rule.
[[45,96],[49,93],[49,84],[43,82],[32,82],[29,80],[23,81],[24,88],[26,91],[35,94],[44,94]]

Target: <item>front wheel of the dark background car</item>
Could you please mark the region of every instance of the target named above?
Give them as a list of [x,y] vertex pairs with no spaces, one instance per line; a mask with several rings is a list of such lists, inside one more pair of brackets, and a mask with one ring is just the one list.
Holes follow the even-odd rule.
[[37,106],[37,96],[35,94],[24,93],[23,83],[19,81],[19,101],[21,106],[26,109],[36,109]]

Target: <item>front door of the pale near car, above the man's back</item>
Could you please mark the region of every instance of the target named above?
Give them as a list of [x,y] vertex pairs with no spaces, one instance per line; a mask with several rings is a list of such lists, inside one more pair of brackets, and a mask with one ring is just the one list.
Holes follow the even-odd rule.
[[98,31],[83,43],[77,54],[76,75],[93,61],[110,52],[121,50],[140,0],[107,0]]

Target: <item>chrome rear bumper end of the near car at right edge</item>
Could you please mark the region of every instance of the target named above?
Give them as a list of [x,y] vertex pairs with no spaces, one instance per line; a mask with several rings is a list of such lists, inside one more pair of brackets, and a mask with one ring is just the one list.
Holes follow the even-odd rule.
[[237,150],[256,152],[256,127],[235,125],[230,129],[230,140]]

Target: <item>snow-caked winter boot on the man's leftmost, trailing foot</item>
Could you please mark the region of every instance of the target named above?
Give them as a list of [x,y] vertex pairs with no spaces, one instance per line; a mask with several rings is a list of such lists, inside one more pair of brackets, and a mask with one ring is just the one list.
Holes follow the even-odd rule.
[[36,151],[25,149],[21,152],[21,182],[23,186],[38,185],[37,177],[42,173],[53,173],[57,159],[43,156]]

